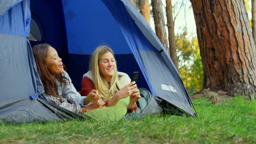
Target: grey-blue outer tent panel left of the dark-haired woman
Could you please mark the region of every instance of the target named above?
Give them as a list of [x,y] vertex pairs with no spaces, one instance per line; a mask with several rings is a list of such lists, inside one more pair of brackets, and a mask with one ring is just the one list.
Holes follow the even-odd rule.
[[[26,35],[27,18],[25,19],[25,14],[21,13],[21,11],[25,11],[25,4],[28,3],[22,1],[16,4],[0,19],[0,90],[1,95],[5,96],[1,97],[0,105],[8,101],[16,101],[18,92],[21,94],[21,99],[29,99],[29,95],[36,93],[36,85],[35,83],[33,85],[31,69],[28,69],[30,63],[32,63],[31,59],[28,59],[31,51],[27,47],[27,38],[19,35],[21,29],[23,29],[22,33]],[[17,17],[23,17],[24,19],[15,19]],[[9,29],[9,34],[4,33],[5,29]]]

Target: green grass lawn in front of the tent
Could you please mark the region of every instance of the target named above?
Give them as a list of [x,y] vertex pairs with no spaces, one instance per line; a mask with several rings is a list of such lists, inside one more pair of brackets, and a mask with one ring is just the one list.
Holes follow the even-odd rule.
[[112,123],[0,125],[0,143],[256,143],[256,101],[193,101],[198,117],[157,115]]

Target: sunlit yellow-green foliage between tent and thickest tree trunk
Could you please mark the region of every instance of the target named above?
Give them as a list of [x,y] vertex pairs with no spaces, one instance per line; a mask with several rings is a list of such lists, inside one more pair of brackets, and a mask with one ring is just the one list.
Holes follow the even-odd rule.
[[178,47],[179,74],[190,95],[202,89],[203,68],[197,38],[189,40],[187,29],[176,36]]

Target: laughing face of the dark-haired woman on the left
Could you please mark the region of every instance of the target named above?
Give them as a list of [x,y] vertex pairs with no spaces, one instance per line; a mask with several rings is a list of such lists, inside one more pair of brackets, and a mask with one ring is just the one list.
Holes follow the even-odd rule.
[[51,46],[48,47],[45,65],[53,77],[55,77],[56,74],[62,74],[64,71],[62,59],[59,57],[57,51]]

